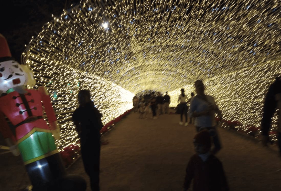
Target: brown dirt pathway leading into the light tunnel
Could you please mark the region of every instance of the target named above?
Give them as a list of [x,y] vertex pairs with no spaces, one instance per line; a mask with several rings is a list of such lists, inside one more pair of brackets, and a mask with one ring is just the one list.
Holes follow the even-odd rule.
[[[194,126],[178,125],[179,115],[138,119],[132,113],[112,129],[101,148],[100,186],[104,191],[182,190],[185,167],[194,154]],[[223,163],[231,190],[281,189],[277,153],[228,130],[219,129]],[[83,172],[81,160],[69,172]],[[87,176],[84,176],[87,180]]]

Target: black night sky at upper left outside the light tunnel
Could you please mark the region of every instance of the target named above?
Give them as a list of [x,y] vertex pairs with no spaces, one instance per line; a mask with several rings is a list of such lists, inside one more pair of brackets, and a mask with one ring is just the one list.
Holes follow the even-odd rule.
[[8,0],[1,1],[0,33],[6,37],[12,56],[20,62],[24,45],[37,36],[51,15],[61,15],[63,9],[77,5],[80,0]]

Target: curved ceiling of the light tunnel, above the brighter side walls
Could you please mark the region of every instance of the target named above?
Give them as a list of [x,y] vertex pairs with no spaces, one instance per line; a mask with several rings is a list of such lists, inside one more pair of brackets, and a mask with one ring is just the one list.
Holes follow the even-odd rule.
[[133,93],[164,92],[278,58],[280,15],[280,1],[87,1],[27,49]]

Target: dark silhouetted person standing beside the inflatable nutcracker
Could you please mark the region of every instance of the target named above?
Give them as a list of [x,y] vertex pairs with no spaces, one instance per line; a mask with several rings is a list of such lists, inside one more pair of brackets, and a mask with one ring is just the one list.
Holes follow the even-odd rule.
[[103,127],[101,113],[91,101],[89,90],[78,92],[80,106],[72,119],[81,143],[81,156],[86,173],[90,176],[91,189],[99,190],[100,130]]

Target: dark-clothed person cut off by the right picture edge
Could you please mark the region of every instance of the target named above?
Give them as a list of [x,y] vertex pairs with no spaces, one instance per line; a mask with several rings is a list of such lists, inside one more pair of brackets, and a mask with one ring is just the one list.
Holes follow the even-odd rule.
[[268,146],[267,143],[270,142],[268,131],[276,109],[278,109],[278,146],[281,156],[281,77],[275,78],[274,83],[269,86],[268,93],[265,97],[261,123],[262,144],[264,146]]

